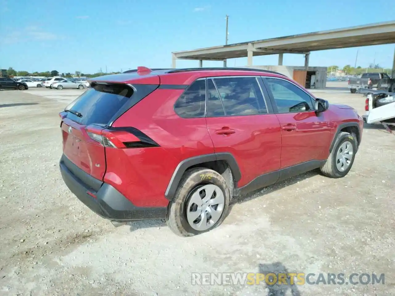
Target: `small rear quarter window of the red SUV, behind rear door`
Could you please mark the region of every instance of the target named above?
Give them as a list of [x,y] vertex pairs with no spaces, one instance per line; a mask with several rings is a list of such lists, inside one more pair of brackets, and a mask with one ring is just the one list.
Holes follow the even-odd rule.
[[206,81],[204,79],[192,83],[177,99],[175,112],[183,118],[203,117],[205,115]]

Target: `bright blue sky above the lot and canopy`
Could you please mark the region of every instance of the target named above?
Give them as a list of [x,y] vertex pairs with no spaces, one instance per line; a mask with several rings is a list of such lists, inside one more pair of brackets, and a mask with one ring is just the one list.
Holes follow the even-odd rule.
[[[358,4],[358,5],[356,5]],[[371,8],[385,8],[372,13]],[[0,0],[0,67],[25,71],[95,73],[137,66],[170,67],[171,52],[222,45],[225,15],[229,41],[301,34],[391,21],[389,0]],[[360,47],[357,64],[392,67],[394,44]],[[312,52],[310,66],[354,66],[357,49]],[[278,56],[254,57],[255,65],[276,65]],[[284,54],[284,65],[304,64],[302,55]],[[245,66],[246,58],[228,60]],[[177,67],[198,61],[177,60]],[[222,66],[222,62],[203,62]]]

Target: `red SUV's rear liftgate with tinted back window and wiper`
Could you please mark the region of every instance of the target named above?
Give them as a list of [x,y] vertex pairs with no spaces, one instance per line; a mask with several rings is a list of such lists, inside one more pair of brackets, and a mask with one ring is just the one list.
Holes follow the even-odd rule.
[[[105,148],[97,134],[130,102],[133,90],[127,85],[96,85],[66,107],[61,129],[63,153],[80,169],[102,180],[106,170]],[[100,139],[99,139],[100,141]]]

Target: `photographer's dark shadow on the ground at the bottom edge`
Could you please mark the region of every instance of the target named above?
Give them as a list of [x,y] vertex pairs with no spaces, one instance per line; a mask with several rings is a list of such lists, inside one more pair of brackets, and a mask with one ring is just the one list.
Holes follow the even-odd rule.
[[[264,274],[265,276],[267,274],[275,274],[278,276],[278,274],[286,274],[286,282],[287,285],[284,283],[278,283],[278,278],[274,279],[274,277],[269,277],[269,281],[273,282],[275,281],[274,284],[270,285],[266,283],[267,287],[267,296],[285,296],[285,295],[291,295],[291,296],[301,296],[299,289],[297,289],[297,279],[296,277],[293,278],[293,281],[291,281],[290,276],[288,274],[290,273],[287,268],[281,263],[281,262],[274,262],[270,264],[259,264],[259,272],[261,274]],[[296,273],[295,271],[291,271],[291,273]],[[290,291],[290,293],[288,293]],[[288,294],[287,294],[288,293]]]

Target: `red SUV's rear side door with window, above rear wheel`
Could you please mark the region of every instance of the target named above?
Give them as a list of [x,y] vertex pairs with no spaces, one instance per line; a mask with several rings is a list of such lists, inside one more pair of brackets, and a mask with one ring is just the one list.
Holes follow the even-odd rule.
[[241,171],[238,186],[280,169],[280,125],[265,103],[260,77],[213,77],[206,82],[207,128],[215,152],[235,157]]

